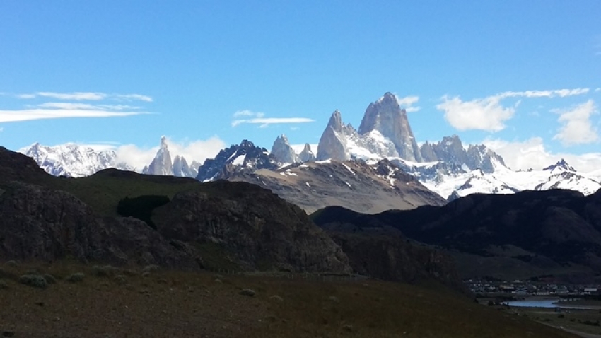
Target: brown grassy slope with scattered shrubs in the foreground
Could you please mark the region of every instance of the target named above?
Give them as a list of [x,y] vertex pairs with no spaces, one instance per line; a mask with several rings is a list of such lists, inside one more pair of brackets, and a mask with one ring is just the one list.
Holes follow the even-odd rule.
[[[267,276],[117,271],[77,263],[0,264],[0,331],[15,337],[573,337],[431,287]],[[16,276],[35,267],[57,284]],[[83,272],[81,283],[65,277]],[[115,277],[122,274],[123,277]],[[256,291],[254,297],[239,294]],[[273,296],[281,297],[281,300]],[[404,335],[403,335],[404,334]]]

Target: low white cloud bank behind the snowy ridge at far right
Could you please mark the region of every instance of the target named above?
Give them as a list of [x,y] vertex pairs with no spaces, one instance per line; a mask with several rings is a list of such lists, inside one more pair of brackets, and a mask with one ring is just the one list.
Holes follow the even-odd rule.
[[501,139],[485,139],[483,144],[503,157],[506,164],[514,169],[527,170],[532,168],[541,170],[564,158],[576,170],[590,173],[601,168],[601,153],[552,153],[547,151],[540,137],[533,137],[526,141],[503,141]]

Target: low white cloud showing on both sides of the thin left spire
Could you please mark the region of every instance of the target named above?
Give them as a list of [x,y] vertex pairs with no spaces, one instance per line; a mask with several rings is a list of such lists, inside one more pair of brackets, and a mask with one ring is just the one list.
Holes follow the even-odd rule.
[[[226,148],[226,143],[217,136],[206,140],[181,142],[173,141],[173,139],[168,137],[166,141],[171,156],[183,156],[188,165],[194,160],[202,164],[206,158],[214,158],[221,149]],[[118,161],[132,165],[136,170],[140,171],[145,165],[149,165],[152,162],[158,148],[159,146],[140,148],[135,144],[125,144],[117,146],[115,152],[117,153]]]

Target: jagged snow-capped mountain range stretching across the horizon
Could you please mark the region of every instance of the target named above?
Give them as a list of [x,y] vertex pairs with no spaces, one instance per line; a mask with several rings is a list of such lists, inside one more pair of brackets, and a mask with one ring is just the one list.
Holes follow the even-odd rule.
[[[55,147],[33,144],[20,152],[34,158],[52,175],[82,177],[105,168],[134,170],[126,163],[120,163],[122,161],[117,160],[114,151],[95,152],[75,144]],[[351,124],[344,124],[341,112],[335,110],[322,133],[317,153],[309,144],[305,144],[301,153],[296,153],[287,137],[281,135],[274,141],[271,151],[244,140],[239,145],[221,150],[215,158],[207,159],[201,165],[197,161],[188,163],[178,154],[172,157],[163,137],[153,161],[140,171],[153,175],[195,177],[201,181],[242,180],[240,177],[246,177],[247,181],[265,182],[250,175],[259,171],[263,175],[264,170],[269,170],[288,177],[285,182],[277,184],[290,185],[293,175],[286,173],[296,173],[294,170],[298,170],[301,163],[312,162],[332,167],[329,168],[332,173],[328,174],[332,175],[332,181],[340,179],[340,182],[351,185],[346,180],[348,177],[344,178],[343,173],[334,169],[343,167],[332,165],[333,162],[347,163],[346,166],[349,166],[346,161],[375,165],[384,158],[416,177],[421,185],[449,200],[472,193],[510,194],[520,190],[554,188],[592,194],[601,188],[601,175],[578,173],[563,160],[544,170],[510,170],[503,158],[491,149],[483,144],[466,147],[456,135],[445,136],[435,143],[426,141],[418,146],[407,112],[392,93],[385,93],[368,105],[358,130]],[[305,183],[310,185],[309,181]],[[327,184],[322,179],[319,181]],[[270,188],[279,190],[279,187]],[[424,199],[426,201],[431,202],[431,199]]]

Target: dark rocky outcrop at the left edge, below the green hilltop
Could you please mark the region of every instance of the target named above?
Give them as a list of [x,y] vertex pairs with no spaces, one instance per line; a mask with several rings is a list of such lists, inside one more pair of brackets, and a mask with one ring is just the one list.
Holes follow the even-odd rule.
[[100,218],[80,199],[61,190],[18,182],[9,182],[4,190],[0,194],[1,257],[202,267],[192,247],[165,240],[135,218]]

